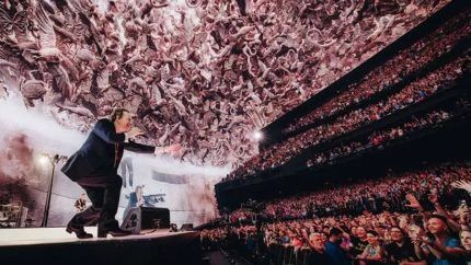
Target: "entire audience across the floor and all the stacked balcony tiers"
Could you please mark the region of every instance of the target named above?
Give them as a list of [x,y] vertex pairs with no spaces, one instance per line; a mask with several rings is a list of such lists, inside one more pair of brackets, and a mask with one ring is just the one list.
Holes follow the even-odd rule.
[[[262,150],[222,181],[244,180],[278,166],[306,148],[321,147],[453,87],[469,73],[471,49],[432,70],[425,67],[461,41],[469,41],[470,22],[469,10],[463,10],[400,50],[325,104],[292,120],[284,132],[309,128]],[[406,78],[409,81],[403,82]],[[381,94],[390,89],[390,93]],[[363,102],[368,103],[343,112]],[[427,110],[400,124],[328,147],[317,152],[308,166],[438,126],[460,111],[441,106]],[[309,193],[262,205],[259,210],[241,207],[215,221],[212,229],[200,233],[203,247],[237,250],[259,262],[266,255],[266,264],[471,264],[470,161],[326,182]]]

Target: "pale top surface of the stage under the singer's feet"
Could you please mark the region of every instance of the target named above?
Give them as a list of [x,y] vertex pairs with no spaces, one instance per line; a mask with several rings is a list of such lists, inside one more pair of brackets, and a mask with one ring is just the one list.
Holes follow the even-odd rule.
[[123,238],[113,238],[107,235],[106,239],[96,238],[96,227],[85,227],[85,231],[93,234],[92,239],[78,239],[74,233],[66,232],[66,228],[7,228],[0,229],[0,246],[14,245],[33,245],[33,244],[54,244],[54,243],[73,243],[90,241],[127,241],[173,237],[176,234],[194,232],[169,232],[169,229],[142,230],[140,234],[133,234]]

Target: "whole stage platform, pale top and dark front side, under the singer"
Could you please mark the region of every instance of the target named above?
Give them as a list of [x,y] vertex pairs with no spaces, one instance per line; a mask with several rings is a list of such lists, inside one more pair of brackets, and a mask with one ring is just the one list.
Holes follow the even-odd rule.
[[142,230],[123,238],[96,238],[96,227],[88,227],[92,239],[77,239],[65,228],[0,229],[0,265],[156,265],[199,264],[199,233]]

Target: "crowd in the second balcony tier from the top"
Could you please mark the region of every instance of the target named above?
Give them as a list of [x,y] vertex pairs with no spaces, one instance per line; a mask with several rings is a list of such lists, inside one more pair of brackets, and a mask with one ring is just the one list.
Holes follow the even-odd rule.
[[354,110],[336,117],[332,122],[321,124],[283,142],[273,145],[228,174],[223,181],[243,178],[257,171],[275,168],[287,162],[308,147],[329,141],[340,135],[348,134],[361,126],[391,115],[399,110],[421,102],[437,91],[452,85],[455,80],[462,77],[463,71],[468,71],[470,61],[471,53],[468,50],[455,60],[412,81],[399,92],[393,93],[384,100],[371,103],[364,108]]

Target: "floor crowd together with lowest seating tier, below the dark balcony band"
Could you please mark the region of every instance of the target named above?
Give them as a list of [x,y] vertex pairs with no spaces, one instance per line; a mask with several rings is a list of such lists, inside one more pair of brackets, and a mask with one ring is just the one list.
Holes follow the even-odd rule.
[[471,164],[443,164],[268,201],[262,237],[240,219],[202,231],[202,242],[252,253],[261,243],[271,264],[469,264],[469,206]]

